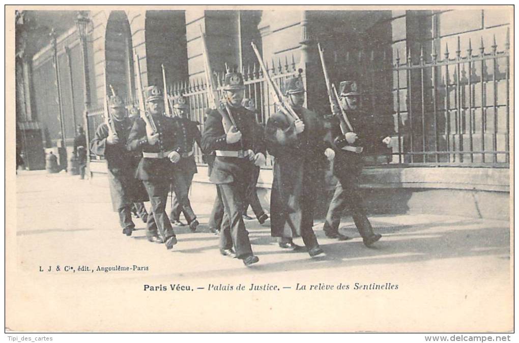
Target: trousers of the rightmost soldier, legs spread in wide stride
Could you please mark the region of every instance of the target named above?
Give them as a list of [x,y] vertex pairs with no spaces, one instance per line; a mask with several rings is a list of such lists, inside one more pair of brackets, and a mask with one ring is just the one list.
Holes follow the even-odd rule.
[[340,216],[343,210],[348,208],[360,235],[365,237],[366,235],[369,236],[370,233],[373,234],[373,229],[362,204],[362,197],[359,194],[356,177],[346,176],[338,179],[339,182],[337,182],[335,193],[326,214],[324,231],[330,234],[338,232]]

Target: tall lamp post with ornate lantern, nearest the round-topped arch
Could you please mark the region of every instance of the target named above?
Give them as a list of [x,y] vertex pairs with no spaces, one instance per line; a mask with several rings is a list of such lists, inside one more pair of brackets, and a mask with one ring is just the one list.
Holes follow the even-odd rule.
[[84,114],[84,126],[85,126],[85,138],[87,141],[87,175],[91,176],[90,173],[90,130],[88,128],[88,108],[90,107],[90,76],[88,73],[88,54],[87,54],[87,36],[88,36],[88,13],[86,11],[78,11],[76,18],[77,33],[79,35],[79,42],[81,43],[81,60],[83,61],[83,80],[84,80],[84,99],[85,99],[85,114]]

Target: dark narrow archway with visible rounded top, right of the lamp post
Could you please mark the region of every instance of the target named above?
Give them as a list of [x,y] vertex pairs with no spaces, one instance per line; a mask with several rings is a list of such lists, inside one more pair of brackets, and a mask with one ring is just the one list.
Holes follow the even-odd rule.
[[[106,81],[117,95],[134,99],[133,56],[130,23],[125,11],[111,11],[105,37]],[[107,87],[107,91],[110,88]]]

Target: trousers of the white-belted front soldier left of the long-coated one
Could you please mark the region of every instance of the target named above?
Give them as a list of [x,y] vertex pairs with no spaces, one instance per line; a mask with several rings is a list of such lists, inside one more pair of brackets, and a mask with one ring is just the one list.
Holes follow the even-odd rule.
[[226,216],[229,225],[222,225],[220,233],[220,249],[233,248],[238,258],[252,255],[249,232],[243,223],[242,211],[245,201],[245,182],[235,181],[230,184],[218,185],[222,194]]

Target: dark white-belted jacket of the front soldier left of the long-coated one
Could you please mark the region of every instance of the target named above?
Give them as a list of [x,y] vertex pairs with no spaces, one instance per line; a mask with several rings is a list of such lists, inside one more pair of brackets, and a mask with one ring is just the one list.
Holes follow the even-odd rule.
[[[256,123],[254,113],[245,107],[229,107],[236,126],[241,132],[241,140],[227,144],[226,134],[222,124],[222,115],[217,109],[213,109],[207,117],[206,126],[202,135],[202,150],[248,150],[252,149],[254,154],[265,154],[265,144],[262,137],[262,129]],[[225,111],[223,109],[222,111]],[[221,157],[217,156],[209,180],[215,184],[228,184],[234,181],[248,180],[253,172],[254,163],[248,158]]]

